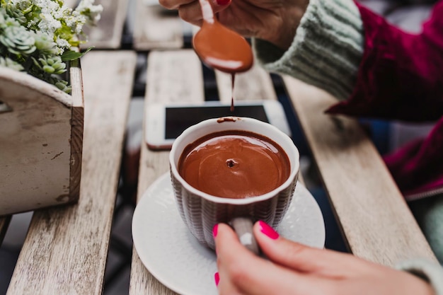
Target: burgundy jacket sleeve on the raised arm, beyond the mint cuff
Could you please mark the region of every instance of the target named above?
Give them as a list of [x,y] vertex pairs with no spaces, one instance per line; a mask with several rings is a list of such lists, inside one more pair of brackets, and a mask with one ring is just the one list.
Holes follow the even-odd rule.
[[364,24],[364,54],[348,100],[326,112],[435,121],[443,115],[443,0],[422,33],[410,34],[356,3]]

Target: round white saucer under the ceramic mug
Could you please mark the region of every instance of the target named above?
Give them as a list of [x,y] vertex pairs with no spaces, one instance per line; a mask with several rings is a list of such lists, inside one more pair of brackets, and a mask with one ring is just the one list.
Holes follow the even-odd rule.
[[[323,248],[323,215],[306,187],[297,183],[291,207],[277,228],[292,241]],[[169,289],[183,295],[217,295],[214,251],[197,242],[178,214],[169,173],[144,192],[132,217],[132,238],[140,260]]]

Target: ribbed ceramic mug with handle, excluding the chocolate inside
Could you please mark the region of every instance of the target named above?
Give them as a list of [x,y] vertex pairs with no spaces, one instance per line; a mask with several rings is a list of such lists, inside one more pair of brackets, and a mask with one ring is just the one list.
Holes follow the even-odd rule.
[[[229,130],[252,132],[280,145],[289,158],[290,170],[287,180],[264,195],[243,199],[209,195],[187,183],[178,172],[178,162],[183,150],[208,134]],[[277,127],[249,117],[216,118],[192,125],[173,142],[169,162],[173,192],[180,216],[192,235],[202,245],[212,249],[215,248],[212,229],[215,224],[223,222],[231,224],[243,245],[258,253],[252,235],[253,223],[263,220],[274,229],[280,224],[292,201],[299,175],[299,151],[292,139]]]

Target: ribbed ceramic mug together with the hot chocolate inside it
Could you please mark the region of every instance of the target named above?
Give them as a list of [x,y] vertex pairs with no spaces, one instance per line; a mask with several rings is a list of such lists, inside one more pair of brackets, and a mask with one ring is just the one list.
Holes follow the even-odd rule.
[[214,249],[212,228],[231,224],[257,253],[251,229],[274,229],[292,201],[299,151],[277,127],[249,117],[209,119],[186,129],[169,156],[180,216],[193,236]]

